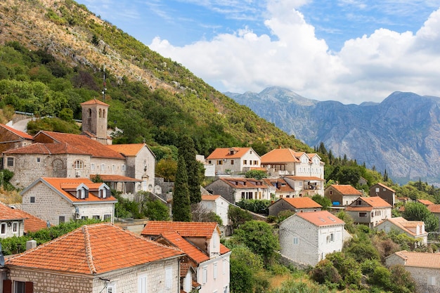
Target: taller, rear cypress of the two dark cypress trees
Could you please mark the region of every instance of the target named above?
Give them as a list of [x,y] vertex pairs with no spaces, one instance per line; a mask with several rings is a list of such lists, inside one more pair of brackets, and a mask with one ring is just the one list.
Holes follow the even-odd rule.
[[193,138],[184,135],[179,145],[179,157],[183,157],[186,164],[186,174],[188,174],[188,188],[190,193],[191,204],[197,204],[202,200],[200,193],[200,164],[195,159],[197,151]]

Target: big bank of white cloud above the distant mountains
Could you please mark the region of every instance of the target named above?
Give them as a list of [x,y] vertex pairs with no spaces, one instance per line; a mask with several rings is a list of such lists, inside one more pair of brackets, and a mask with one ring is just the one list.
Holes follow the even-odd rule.
[[220,91],[284,86],[307,98],[380,102],[393,91],[440,96],[440,10],[418,32],[378,29],[331,52],[296,10],[306,1],[269,1],[264,25],[183,47],[155,38],[150,48]]

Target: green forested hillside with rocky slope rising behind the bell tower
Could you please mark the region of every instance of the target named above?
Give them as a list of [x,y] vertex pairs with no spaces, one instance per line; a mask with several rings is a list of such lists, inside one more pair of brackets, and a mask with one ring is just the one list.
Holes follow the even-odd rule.
[[[250,145],[310,148],[235,103],[182,65],[151,51],[75,1],[0,1],[0,107],[81,119],[79,103],[102,98],[118,143],[178,145],[198,152]],[[71,110],[71,111],[70,111]],[[0,115],[6,122],[7,115]]]

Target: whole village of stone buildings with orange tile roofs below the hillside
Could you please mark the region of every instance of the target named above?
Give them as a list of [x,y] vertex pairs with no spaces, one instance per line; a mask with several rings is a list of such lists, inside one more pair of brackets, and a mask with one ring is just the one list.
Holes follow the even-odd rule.
[[[108,104],[93,99],[81,106],[82,134],[39,131],[30,136],[13,123],[0,125],[1,169],[13,172],[10,183],[20,188],[22,197],[20,203],[0,204],[0,237],[69,221],[103,221],[38,246],[31,241],[26,252],[8,257],[1,269],[3,292],[231,292],[231,249],[220,240],[233,233],[228,211],[242,200],[271,202],[267,214],[253,214],[259,221],[287,213],[277,237],[280,260],[288,266],[314,267],[326,255],[342,251],[353,235],[337,217],[340,211],[355,224],[403,233],[415,247],[428,245],[423,221],[392,216],[396,203],[408,199],[397,199],[383,183],[371,186],[369,194],[351,185],[325,187],[321,157],[290,148],[260,157],[252,148],[231,146],[217,148],[206,159],[198,156],[205,176],[213,178],[201,188],[200,207],[219,216],[221,225],[144,221],[139,230],[121,228],[112,190],[130,200],[148,192],[169,207],[172,193],[162,193],[169,187],[155,178],[155,154],[148,145],[112,144]],[[249,171],[264,178],[244,176]],[[330,206],[312,200],[316,196]],[[439,204],[420,203],[440,219]],[[404,266],[420,292],[436,292],[440,265],[421,260],[437,256],[399,251],[384,262]]]

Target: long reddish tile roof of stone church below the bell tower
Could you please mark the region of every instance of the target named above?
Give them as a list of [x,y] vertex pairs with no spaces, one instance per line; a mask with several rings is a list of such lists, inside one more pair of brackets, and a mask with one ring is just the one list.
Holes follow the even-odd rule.
[[123,155],[119,154],[119,152],[80,134],[62,134],[53,131],[39,131],[39,133],[34,136],[34,141],[37,143],[67,143],[72,147],[90,154],[92,157],[125,159]]

